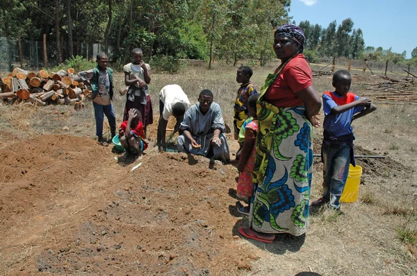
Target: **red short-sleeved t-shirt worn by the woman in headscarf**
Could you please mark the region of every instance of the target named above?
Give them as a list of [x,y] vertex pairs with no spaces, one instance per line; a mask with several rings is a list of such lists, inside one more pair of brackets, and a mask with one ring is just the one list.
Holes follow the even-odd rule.
[[[281,68],[279,65],[275,74]],[[292,58],[278,74],[274,83],[265,92],[263,98],[276,107],[304,105],[297,92],[313,84],[313,75],[304,55],[299,53]]]

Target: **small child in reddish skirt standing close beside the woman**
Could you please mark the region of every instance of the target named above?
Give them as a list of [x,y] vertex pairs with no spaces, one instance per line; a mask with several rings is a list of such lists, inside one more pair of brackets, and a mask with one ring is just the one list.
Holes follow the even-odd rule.
[[[259,94],[250,96],[247,101],[249,114],[253,120],[246,125],[245,141],[243,142],[243,148],[240,153],[240,159],[238,164],[239,180],[236,194],[238,198],[242,200],[248,200],[252,197],[252,189],[254,182],[252,182],[252,172],[254,171],[255,161],[255,141],[256,133],[258,132],[258,118],[256,117],[256,101],[258,101]],[[238,207],[238,212],[242,214],[249,214],[250,206]]]

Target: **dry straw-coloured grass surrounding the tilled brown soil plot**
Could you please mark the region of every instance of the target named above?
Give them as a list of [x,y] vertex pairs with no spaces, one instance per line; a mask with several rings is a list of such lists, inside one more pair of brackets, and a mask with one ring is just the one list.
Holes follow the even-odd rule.
[[[252,67],[252,82],[260,89],[265,76],[277,63],[268,67]],[[149,87],[154,105],[154,123],[158,114],[158,92],[168,84],[183,87],[191,103],[197,101],[202,89],[211,89],[214,100],[222,107],[224,121],[232,125],[233,104],[239,84],[237,67],[215,63],[212,70],[188,67],[179,74],[152,74]],[[124,87],[123,75],[115,74],[114,108],[117,124],[121,123],[125,96],[118,91]],[[314,87],[321,93],[332,90],[331,76],[314,79]],[[352,90],[360,94],[359,85]],[[417,275],[416,262],[416,174],[417,168],[416,105],[382,105],[368,117],[354,122],[357,146],[375,154],[391,157],[390,164],[377,168],[377,173],[363,173],[366,186],[361,187],[360,200],[343,204],[345,214],[322,209],[311,214],[305,241],[280,239],[272,245],[236,240],[243,248],[256,250],[259,259],[252,260],[252,270],[240,275],[295,275],[301,271],[325,275]],[[106,121],[106,120],[105,120]],[[63,130],[67,126],[69,130]],[[90,103],[85,110],[75,112],[70,106],[8,107],[0,105],[0,132],[17,139],[47,133],[65,133],[95,139],[94,111]],[[320,138],[321,129],[313,136]],[[108,125],[105,136],[110,138]],[[149,137],[155,139],[156,137]],[[0,144],[1,145],[1,144]],[[396,145],[394,147],[394,145]],[[399,166],[398,162],[407,166]],[[320,196],[322,173],[315,165],[311,199]],[[234,183],[229,184],[234,187]],[[30,255],[28,248],[16,259]],[[243,257],[244,258],[244,257]],[[227,272],[224,275],[228,275]]]

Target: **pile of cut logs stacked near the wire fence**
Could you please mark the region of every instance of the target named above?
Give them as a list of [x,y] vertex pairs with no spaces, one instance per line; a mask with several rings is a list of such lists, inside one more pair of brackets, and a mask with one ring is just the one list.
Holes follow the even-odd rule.
[[85,98],[90,98],[91,87],[80,80],[74,69],[38,73],[16,67],[0,80],[0,99],[13,104],[28,102],[35,105],[74,105],[79,109]]

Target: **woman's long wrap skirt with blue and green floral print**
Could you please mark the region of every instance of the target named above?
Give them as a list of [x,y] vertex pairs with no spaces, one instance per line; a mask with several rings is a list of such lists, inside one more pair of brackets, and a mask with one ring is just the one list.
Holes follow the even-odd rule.
[[304,107],[258,107],[250,226],[300,236],[309,224],[313,147]]

